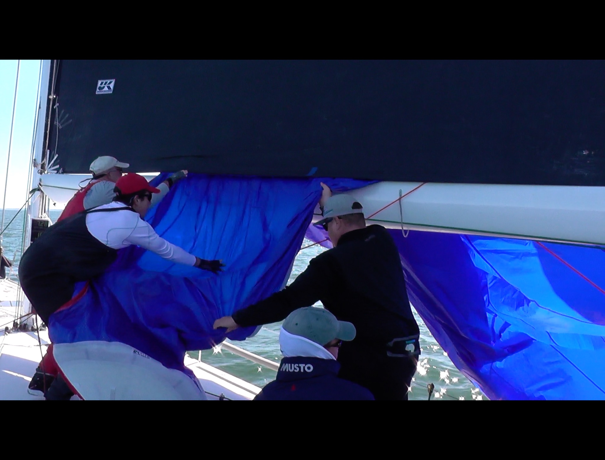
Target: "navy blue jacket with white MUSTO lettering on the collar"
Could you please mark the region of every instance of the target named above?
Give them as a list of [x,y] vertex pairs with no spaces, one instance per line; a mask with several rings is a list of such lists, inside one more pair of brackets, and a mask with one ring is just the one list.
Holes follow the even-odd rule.
[[338,378],[336,360],[295,356],[283,358],[274,381],[267,384],[255,401],[368,400],[374,396],[356,383]]

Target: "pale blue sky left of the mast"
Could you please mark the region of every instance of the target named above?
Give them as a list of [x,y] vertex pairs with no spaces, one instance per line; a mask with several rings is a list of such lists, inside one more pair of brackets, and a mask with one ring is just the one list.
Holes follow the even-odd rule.
[[[17,60],[0,60],[0,207],[4,199],[4,185],[7,171],[8,139],[13,113]],[[27,183],[31,154],[31,135],[38,96],[38,75],[40,61],[22,60],[19,68],[19,87],[13,127],[10,165],[8,173],[8,193],[6,208],[21,208],[25,202],[30,184]]]

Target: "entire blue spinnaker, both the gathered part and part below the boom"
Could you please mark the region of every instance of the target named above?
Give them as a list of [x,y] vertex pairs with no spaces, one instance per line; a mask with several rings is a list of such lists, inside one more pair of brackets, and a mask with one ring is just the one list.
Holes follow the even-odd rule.
[[[187,251],[223,259],[226,271],[215,276],[124,249],[81,300],[51,317],[51,340],[120,341],[186,372],[186,350],[224,339],[212,329],[216,318],[284,286],[305,236],[331,247],[310,226],[319,182],[190,175],[147,220]],[[336,192],[368,185],[322,182]],[[488,398],[605,399],[605,249],[390,232],[411,303]]]

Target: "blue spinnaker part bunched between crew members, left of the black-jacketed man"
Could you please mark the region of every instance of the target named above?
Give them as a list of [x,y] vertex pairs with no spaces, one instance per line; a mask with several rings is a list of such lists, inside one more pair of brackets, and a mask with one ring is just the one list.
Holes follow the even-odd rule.
[[[162,182],[166,174],[152,181]],[[189,174],[146,220],[163,238],[205,259],[222,259],[223,273],[171,263],[142,248],[119,251],[86,294],[52,315],[53,343],[119,341],[183,369],[186,350],[224,340],[212,329],[231,315],[282,289],[321,197],[322,179],[254,179]],[[370,182],[329,180],[335,191]],[[85,283],[76,286],[74,294]],[[229,333],[243,340],[255,328]]]

